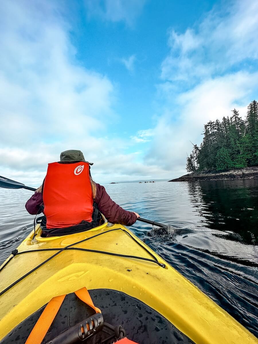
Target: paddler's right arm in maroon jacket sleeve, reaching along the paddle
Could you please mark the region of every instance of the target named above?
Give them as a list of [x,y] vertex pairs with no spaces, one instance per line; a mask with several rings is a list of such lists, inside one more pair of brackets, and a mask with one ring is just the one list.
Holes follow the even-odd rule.
[[135,212],[128,212],[111,200],[105,187],[96,183],[97,192],[95,202],[99,211],[106,217],[110,223],[120,223],[121,225],[131,226],[139,217]]

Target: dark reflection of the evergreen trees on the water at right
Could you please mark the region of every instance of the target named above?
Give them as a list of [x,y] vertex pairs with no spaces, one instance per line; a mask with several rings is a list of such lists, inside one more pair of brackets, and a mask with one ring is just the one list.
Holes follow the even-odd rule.
[[[258,187],[256,179],[189,183],[191,202],[209,228],[234,234],[228,239],[257,244]],[[225,236],[225,239],[227,237]]]

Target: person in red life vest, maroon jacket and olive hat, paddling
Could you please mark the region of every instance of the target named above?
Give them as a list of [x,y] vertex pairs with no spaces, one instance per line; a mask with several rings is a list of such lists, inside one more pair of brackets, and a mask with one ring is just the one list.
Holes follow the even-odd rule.
[[95,183],[90,165],[79,150],[60,154],[50,163],[43,184],[26,202],[27,211],[40,214],[45,235],[82,232],[99,225],[98,210],[108,222],[131,226],[139,217],[111,200],[105,187]]

